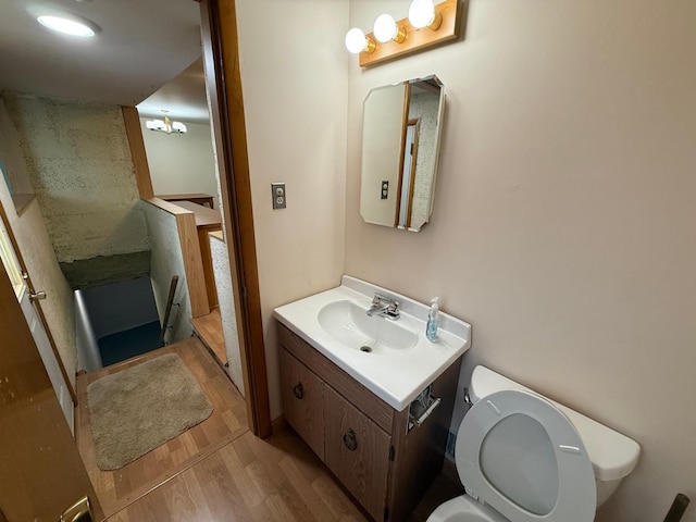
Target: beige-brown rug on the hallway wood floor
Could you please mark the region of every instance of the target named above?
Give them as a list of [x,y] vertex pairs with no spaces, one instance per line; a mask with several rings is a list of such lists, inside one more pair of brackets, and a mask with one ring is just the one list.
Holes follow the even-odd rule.
[[87,387],[97,464],[110,471],[208,419],[213,407],[176,353],[104,375]]

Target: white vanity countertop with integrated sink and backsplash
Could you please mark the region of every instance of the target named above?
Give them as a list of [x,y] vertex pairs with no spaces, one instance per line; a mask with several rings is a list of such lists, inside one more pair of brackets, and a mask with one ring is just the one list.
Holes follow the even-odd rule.
[[[368,316],[378,293],[400,318]],[[397,411],[469,349],[471,325],[440,311],[437,340],[425,338],[428,307],[344,275],[341,285],[276,308],[273,315]]]

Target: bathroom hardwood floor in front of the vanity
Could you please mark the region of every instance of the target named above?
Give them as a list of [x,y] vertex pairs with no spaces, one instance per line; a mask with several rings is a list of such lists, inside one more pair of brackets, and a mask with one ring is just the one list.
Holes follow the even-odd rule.
[[[307,478],[308,458],[323,465],[287,427],[265,440],[247,432],[110,520],[160,521],[185,513],[171,520],[364,522],[327,471]],[[157,512],[161,502],[164,514]]]

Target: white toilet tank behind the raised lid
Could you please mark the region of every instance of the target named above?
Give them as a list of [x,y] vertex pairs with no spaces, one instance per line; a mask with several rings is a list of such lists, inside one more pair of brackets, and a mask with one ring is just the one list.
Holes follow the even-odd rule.
[[[474,368],[470,388],[472,401],[476,402],[483,397],[505,389],[521,389],[544,397],[542,394],[537,394],[533,389],[522,386],[485,366]],[[601,506],[613,494],[623,477],[635,469],[641,455],[641,447],[635,440],[625,435],[599,424],[575,410],[559,405],[548,397],[544,398],[563,412],[583,439],[595,472],[597,507]]]

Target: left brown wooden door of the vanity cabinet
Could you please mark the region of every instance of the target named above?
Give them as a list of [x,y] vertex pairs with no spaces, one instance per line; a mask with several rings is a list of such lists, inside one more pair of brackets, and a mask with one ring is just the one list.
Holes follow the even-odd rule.
[[281,348],[281,396],[285,420],[324,460],[324,384]]

